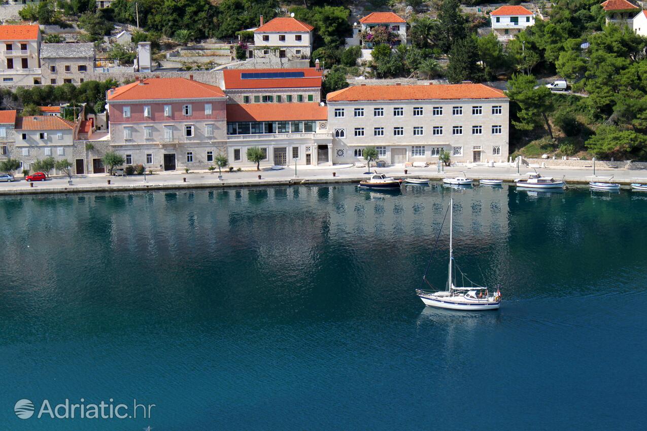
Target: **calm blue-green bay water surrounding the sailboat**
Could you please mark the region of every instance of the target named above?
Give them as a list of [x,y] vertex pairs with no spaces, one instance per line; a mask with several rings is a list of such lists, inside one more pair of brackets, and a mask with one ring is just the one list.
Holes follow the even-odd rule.
[[[0,429],[644,429],[647,194],[454,192],[504,302],[443,313],[414,291],[450,190],[0,199]],[[65,398],[155,407],[14,414]]]

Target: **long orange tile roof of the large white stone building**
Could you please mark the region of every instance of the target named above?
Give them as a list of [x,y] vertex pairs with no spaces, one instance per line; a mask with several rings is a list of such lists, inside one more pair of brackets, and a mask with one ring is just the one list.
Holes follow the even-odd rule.
[[328,93],[331,101],[459,100],[507,98],[502,90],[483,84],[355,85]]

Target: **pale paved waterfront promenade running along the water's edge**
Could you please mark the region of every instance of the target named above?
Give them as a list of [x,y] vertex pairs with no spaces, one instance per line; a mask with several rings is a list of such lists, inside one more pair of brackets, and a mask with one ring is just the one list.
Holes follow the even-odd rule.
[[[403,167],[371,168],[379,173],[388,174],[396,178],[421,177],[439,180],[447,176],[461,175],[465,172],[468,178],[479,180],[481,178],[512,181],[523,176],[532,168],[520,167],[445,167],[439,173],[436,166],[406,168]],[[208,171],[195,171],[190,173],[156,173],[136,176],[108,176],[107,174],[90,174],[74,176],[72,185],[68,184],[67,177],[53,177],[46,182],[35,182],[33,186],[19,180],[12,183],[0,183],[0,194],[30,194],[30,193],[77,193],[94,191],[129,191],[146,189],[179,189],[193,187],[245,187],[253,185],[285,185],[285,184],[325,184],[335,182],[359,182],[366,178],[366,167],[298,167],[297,176],[294,176],[294,167],[281,171],[263,169],[261,171],[223,172],[223,180],[218,180],[218,173]],[[613,175],[613,182],[631,184],[633,182],[647,183],[646,169],[596,169],[593,176],[592,168],[546,167],[537,169],[543,176],[554,178],[564,177],[571,184],[587,184],[589,181],[604,181]],[[333,176],[333,173],[335,174]],[[258,176],[261,175],[261,180]],[[111,184],[107,184],[110,180]]]

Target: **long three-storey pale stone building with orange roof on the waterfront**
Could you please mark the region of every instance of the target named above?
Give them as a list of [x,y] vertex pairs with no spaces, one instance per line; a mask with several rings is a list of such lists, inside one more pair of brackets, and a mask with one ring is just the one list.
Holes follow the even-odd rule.
[[363,162],[377,147],[387,164],[505,162],[509,99],[483,84],[360,85],[327,96],[336,163]]

